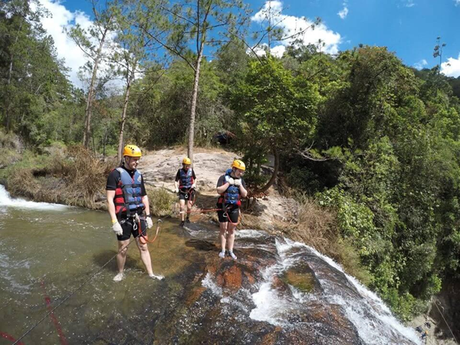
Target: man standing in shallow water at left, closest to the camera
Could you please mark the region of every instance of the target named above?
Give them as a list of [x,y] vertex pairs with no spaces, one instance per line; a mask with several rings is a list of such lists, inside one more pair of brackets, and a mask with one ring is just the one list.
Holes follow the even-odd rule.
[[[150,229],[153,226],[144,178],[136,169],[141,156],[139,147],[126,145],[123,149],[122,165],[112,170],[107,178],[107,208],[112,218],[112,229],[118,239],[118,274],[113,278],[117,282],[124,278],[127,246],[131,235],[136,240],[141,260],[149,277],[163,279],[163,276],[153,274],[147,243],[142,237],[139,237],[139,231],[146,235],[147,228]],[[139,224],[141,229],[139,229]]]

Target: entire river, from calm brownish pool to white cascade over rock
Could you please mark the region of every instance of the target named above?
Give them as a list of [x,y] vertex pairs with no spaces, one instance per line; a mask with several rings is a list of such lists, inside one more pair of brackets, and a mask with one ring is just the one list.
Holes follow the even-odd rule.
[[[0,186],[0,344],[418,344],[373,293],[312,248],[218,227],[161,223],[148,278],[133,242],[126,278],[106,212],[11,199]],[[314,277],[306,291],[285,277]],[[19,342],[18,342],[19,343]]]

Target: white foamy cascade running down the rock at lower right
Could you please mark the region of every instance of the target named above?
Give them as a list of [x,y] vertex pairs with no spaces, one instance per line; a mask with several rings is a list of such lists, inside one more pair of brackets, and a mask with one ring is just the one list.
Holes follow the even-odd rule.
[[[376,294],[347,275],[342,267],[329,257],[289,239],[277,239],[276,250],[278,262],[265,269],[264,282],[260,283],[259,291],[252,295],[256,306],[250,313],[252,319],[286,327],[287,314],[296,309],[308,309],[310,303],[327,303],[342,308],[365,344],[396,344],[389,340],[395,337],[420,344],[419,336],[413,329],[401,324]],[[308,262],[315,271],[322,293],[309,295],[292,288],[292,297],[283,298],[273,288],[273,279],[301,262]]]

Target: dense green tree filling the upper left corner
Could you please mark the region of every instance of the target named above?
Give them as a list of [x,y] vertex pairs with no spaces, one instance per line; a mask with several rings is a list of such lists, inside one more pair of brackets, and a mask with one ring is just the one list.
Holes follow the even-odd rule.
[[70,87],[54,42],[40,24],[47,13],[35,5],[15,0],[0,7],[0,108],[5,129],[39,147],[50,139],[49,127],[58,125]]

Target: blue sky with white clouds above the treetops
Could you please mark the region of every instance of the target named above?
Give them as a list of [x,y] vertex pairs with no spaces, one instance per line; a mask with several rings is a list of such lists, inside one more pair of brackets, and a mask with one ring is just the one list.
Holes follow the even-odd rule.
[[[77,72],[85,56],[64,33],[77,23],[91,25],[91,7],[87,0],[39,0],[52,17],[43,26],[53,36],[59,58],[71,69],[70,79],[81,86]],[[321,23],[314,30],[304,30],[304,43],[323,42],[329,54],[353,49],[359,44],[385,46],[407,66],[418,69],[439,64],[433,49],[442,48],[441,72],[460,76],[460,0],[246,0],[253,11],[251,29],[267,26],[271,13],[286,36],[309,27],[316,18]],[[266,42],[263,42],[266,43]],[[282,55],[289,39],[273,42],[271,51]]]

